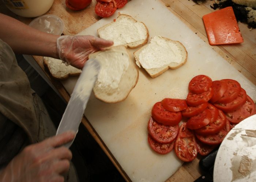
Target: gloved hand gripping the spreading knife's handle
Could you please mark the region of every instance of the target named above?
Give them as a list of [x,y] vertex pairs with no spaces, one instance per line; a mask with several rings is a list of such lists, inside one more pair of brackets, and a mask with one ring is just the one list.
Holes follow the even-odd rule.
[[66,147],[59,147],[72,141],[72,131],[45,139],[25,147],[0,172],[3,182],[64,182],[61,175],[68,171],[72,153]]

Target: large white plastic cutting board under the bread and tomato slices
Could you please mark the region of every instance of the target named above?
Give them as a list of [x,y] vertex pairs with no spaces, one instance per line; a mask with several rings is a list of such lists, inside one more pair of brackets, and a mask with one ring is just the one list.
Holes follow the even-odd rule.
[[[184,44],[188,52],[187,63],[154,79],[140,68],[139,81],[125,101],[106,104],[91,96],[84,113],[131,181],[165,181],[182,162],[173,151],[160,155],[148,146],[147,122],[154,103],[165,97],[185,99],[189,81],[199,74],[208,75],[213,80],[235,79],[254,101],[256,86],[212,50],[160,0],[132,0],[118,11],[144,22],[150,37],[161,35]],[[110,18],[101,19],[79,35],[98,36],[97,29],[117,16],[118,12]],[[62,82],[70,94],[76,80],[77,77],[70,77]]]

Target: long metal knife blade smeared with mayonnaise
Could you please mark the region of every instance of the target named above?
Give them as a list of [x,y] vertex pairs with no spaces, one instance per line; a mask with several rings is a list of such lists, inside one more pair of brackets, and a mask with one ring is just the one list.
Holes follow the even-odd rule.
[[[96,59],[87,60],[61,118],[56,135],[68,130],[72,130],[76,133],[78,132],[79,124],[93,90],[94,83],[97,80],[99,70],[100,64]],[[64,146],[69,148],[74,142],[74,139]]]

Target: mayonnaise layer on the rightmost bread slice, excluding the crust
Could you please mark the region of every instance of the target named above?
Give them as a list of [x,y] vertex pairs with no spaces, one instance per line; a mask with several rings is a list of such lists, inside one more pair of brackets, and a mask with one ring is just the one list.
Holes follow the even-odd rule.
[[182,53],[176,44],[154,36],[139,54],[139,62],[145,69],[160,68],[172,62],[181,63]]

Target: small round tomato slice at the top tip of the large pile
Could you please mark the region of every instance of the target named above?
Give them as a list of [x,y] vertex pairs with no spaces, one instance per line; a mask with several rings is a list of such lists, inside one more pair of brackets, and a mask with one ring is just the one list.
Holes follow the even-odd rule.
[[212,80],[206,75],[197,75],[188,84],[189,92],[193,94],[202,94],[212,86]]

